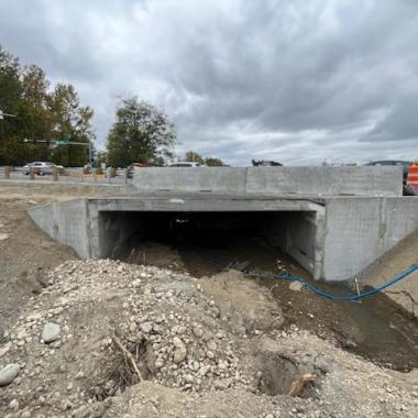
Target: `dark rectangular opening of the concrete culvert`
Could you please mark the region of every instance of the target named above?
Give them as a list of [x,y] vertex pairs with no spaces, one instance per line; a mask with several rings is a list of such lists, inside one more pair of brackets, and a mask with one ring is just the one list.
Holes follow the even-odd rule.
[[[106,256],[179,267],[196,276],[230,263],[312,273],[316,212],[101,212]],[[277,264],[278,262],[278,264]],[[277,271],[278,267],[278,271]]]

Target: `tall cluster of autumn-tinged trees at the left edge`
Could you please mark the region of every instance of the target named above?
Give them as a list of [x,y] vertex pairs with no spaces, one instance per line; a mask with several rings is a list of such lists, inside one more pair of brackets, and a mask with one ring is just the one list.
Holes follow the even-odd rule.
[[[51,85],[36,65],[22,65],[0,45],[0,165],[53,161],[81,166],[95,139],[90,107],[81,106],[70,84]],[[57,141],[62,143],[57,144]]]

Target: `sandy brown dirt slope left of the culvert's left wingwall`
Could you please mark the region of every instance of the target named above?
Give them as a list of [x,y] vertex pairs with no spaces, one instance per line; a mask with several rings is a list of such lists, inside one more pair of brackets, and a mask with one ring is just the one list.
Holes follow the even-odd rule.
[[42,232],[25,209],[51,201],[119,193],[119,187],[0,182],[0,336],[28,298],[44,287],[45,272],[75,258],[70,249]]

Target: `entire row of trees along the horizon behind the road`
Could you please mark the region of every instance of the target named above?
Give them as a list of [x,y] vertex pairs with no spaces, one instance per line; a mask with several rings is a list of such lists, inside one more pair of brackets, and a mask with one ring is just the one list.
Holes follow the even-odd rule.
[[[21,65],[0,45],[0,165],[52,161],[67,167],[88,162],[95,140],[94,110],[81,106],[74,86],[52,86],[42,68]],[[86,144],[86,146],[80,145]],[[107,135],[106,151],[96,153],[96,165],[133,163],[165,165],[175,160],[176,130],[168,116],[136,97],[123,99]],[[189,151],[182,158],[207,166],[223,166],[216,157]]]

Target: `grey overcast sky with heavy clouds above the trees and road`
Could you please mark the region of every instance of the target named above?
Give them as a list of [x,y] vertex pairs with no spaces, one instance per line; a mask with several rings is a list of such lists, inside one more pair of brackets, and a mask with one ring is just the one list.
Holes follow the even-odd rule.
[[0,0],[0,44],[75,85],[101,145],[136,95],[231,165],[418,158],[417,0]]

